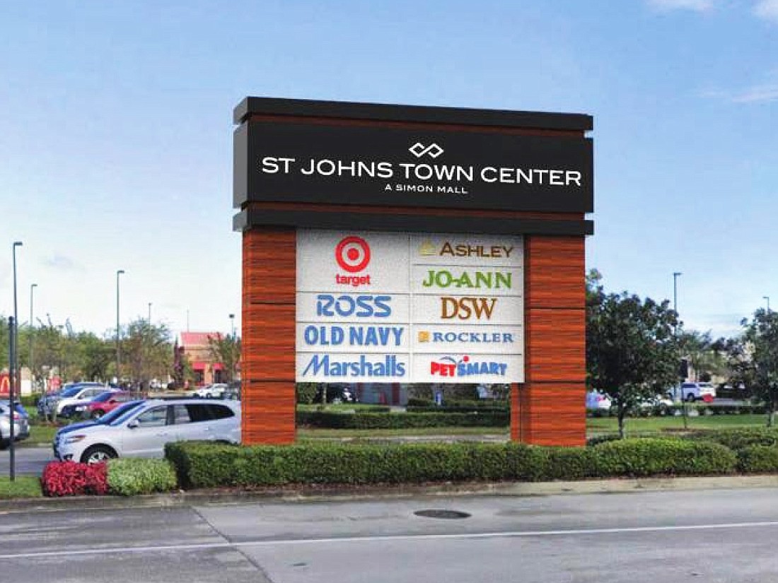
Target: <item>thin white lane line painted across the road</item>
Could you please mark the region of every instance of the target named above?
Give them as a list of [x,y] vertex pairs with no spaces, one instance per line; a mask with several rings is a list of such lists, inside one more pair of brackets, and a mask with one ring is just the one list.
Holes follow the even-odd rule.
[[79,555],[103,555],[109,553],[159,553],[175,550],[240,549],[246,546],[288,546],[331,543],[370,543],[398,540],[451,540],[451,539],[509,539],[532,536],[587,536],[602,534],[628,534],[630,532],[676,532],[687,530],[754,529],[778,526],[778,521],[730,522],[727,524],[685,526],[633,526],[613,529],[522,530],[507,532],[461,532],[457,534],[342,536],[321,539],[244,540],[237,543],[191,543],[157,546],[111,546],[82,550],[47,550],[37,553],[0,554],[0,560],[31,559],[36,557],[77,557]]

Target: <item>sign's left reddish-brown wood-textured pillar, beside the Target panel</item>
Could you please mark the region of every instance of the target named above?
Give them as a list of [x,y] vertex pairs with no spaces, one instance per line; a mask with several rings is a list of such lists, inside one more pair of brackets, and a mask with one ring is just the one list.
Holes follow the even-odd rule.
[[244,444],[295,441],[296,231],[243,235]]

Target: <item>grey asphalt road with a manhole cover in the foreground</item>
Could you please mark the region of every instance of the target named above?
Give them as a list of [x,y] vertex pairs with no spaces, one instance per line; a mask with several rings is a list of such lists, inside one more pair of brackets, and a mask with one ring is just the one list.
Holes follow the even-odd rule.
[[[4,581],[778,581],[778,488],[0,515]],[[446,510],[468,518],[424,518]]]

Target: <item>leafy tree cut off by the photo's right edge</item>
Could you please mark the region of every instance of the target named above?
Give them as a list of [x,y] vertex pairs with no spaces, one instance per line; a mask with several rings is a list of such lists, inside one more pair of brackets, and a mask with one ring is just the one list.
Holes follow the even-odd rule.
[[[778,312],[758,309],[753,319],[743,319],[740,346],[732,345],[731,360],[741,382],[752,387],[767,406],[767,427],[773,427],[778,409]],[[734,357],[734,358],[733,358]]]

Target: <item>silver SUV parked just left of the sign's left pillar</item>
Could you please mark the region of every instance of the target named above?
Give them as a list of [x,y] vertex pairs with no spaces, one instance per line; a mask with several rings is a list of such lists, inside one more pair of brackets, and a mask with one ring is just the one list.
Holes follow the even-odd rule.
[[[240,443],[240,403],[161,399],[130,401],[121,414],[68,425],[54,436],[54,456],[61,461],[100,463],[124,456],[164,456],[169,442],[208,440]],[[107,420],[107,421],[103,421]]]

